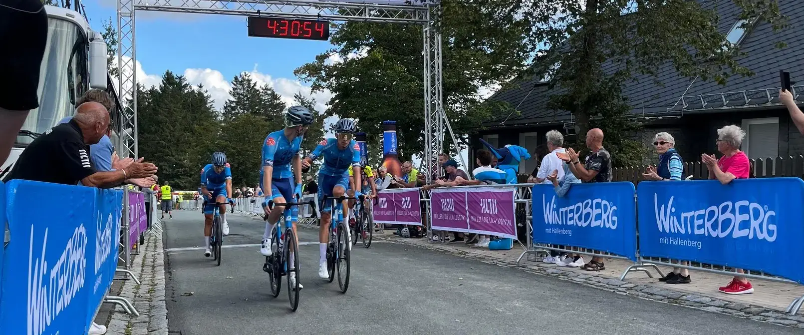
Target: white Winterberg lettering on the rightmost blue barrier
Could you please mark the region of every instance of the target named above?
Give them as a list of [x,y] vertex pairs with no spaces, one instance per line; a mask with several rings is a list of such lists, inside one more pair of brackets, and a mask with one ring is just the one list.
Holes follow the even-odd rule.
[[667,205],[659,206],[654,194],[654,212],[658,231],[685,235],[704,235],[732,239],[748,236],[749,239],[776,240],[776,212],[757,202],[740,200],[722,202],[706,208],[676,213],[671,196]]

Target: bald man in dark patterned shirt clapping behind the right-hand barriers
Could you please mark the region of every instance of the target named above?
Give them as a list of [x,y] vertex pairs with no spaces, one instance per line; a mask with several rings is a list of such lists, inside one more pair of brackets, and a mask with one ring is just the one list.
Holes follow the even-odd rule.
[[[580,164],[578,154],[574,149],[567,149],[567,156],[559,157],[567,161],[569,170],[581,182],[611,182],[611,154],[603,148],[603,130],[590,129],[586,133],[586,147],[592,150],[586,156],[585,163]],[[602,257],[593,257],[592,261],[580,267],[586,271],[601,271],[605,269]]]

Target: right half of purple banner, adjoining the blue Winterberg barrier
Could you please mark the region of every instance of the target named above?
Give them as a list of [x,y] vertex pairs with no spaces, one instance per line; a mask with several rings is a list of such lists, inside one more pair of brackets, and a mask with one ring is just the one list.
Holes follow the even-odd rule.
[[513,188],[481,187],[466,190],[469,230],[516,239]]

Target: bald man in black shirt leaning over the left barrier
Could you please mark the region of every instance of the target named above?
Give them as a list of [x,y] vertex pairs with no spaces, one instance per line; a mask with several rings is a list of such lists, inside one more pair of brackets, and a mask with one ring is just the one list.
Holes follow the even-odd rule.
[[56,125],[28,145],[4,182],[12,179],[68,185],[81,182],[84,186],[109,188],[128,179],[156,174],[156,165],[144,163],[142,158],[125,169],[96,171],[89,159],[89,145],[100,141],[108,129],[109,111],[103,104],[80,104],[71,121]]

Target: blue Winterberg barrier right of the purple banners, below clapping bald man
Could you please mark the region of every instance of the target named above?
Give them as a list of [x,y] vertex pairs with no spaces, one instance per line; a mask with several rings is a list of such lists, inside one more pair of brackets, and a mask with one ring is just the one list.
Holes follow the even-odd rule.
[[634,184],[576,184],[564,197],[552,185],[533,186],[533,242],[606,251],[637,259]]

